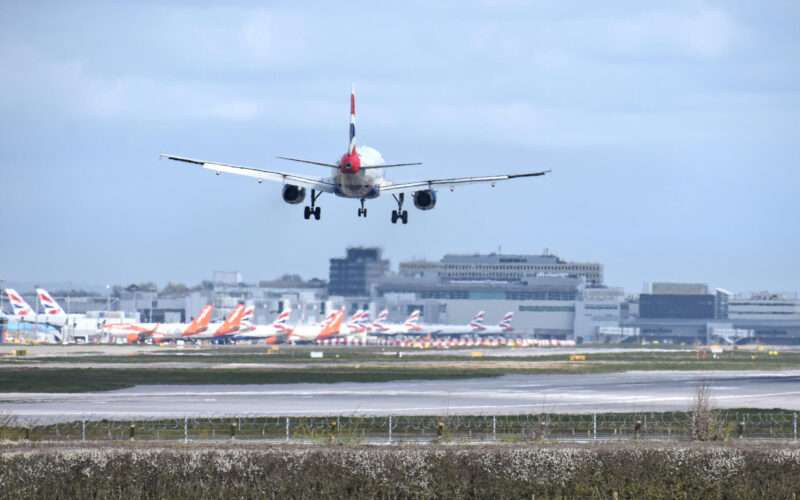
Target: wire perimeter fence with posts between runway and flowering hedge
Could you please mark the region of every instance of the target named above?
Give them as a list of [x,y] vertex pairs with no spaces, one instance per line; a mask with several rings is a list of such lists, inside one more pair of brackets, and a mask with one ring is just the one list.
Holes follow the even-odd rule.
[[558,441],[797,441],[797,412],[712,411],[445,416],[203,415],[153,420],[87,415],[62,423],[0,424],[12,441],[263,441],[468,443]]

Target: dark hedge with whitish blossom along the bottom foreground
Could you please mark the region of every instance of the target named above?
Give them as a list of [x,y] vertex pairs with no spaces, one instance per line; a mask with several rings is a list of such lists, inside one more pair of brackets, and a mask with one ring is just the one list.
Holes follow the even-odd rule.
[[0,485],[3,498],[791,498],[800,448],[8,445]]

